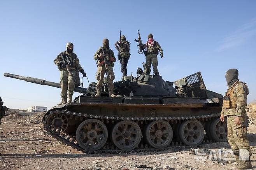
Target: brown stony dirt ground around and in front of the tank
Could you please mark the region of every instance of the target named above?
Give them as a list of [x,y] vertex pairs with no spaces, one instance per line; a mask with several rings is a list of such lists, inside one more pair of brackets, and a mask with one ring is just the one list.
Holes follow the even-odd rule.
[[[227,142],[198,147],[179,146],[160,152],[129,154],[84,154],[56,139],[45,136],[40,123],[42,114],[24,116],[10,114],[0,126],[0,169],[21,170],[132,170],[132,169],[233,169],[230,163],[217,156],[229,149]],[[255,118],[253,118],[255,120]],[[41,133],[42,132],[42,133]],[[252,166],[256,168],[256,125],[250,121],[248,137],[252,151]],[[199,149],[195,155],[195,149]],[[209,158],[210,149],[216,151]],[[219,149],[220,152],[219,152]],[[207,154],[208,153],[208,154]],[[214,153],[213,151],[211,153]],[[219,153],[219,154],[218,154]],[[198,161],[197,159],[198,158]],[[203,158],[203,160],[202,160]]]

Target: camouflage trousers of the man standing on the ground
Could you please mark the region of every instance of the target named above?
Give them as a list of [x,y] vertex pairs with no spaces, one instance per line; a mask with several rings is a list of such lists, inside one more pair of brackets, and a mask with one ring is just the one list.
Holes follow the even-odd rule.
[[246,149],[250,156],[252,155],[250,144],[247,138],[247,128],[245,123],[245,117],[239,117],[241,124],[235,124],[235,116],[228,117],[228,143],[234,154],[238,155],[239,149]]

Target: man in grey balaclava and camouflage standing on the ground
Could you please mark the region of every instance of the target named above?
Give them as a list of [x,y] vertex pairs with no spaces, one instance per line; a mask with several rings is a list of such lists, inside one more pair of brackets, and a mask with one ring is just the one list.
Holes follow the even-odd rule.
[[225,77],[229,88],[223,98],[220,119],[224,121],[224,116],[227,117],[228,143],[235,154],[238,163],[237,169],[249,169],[252,168],[249,160],[239,160],[239,153],[241,156],[242,151],[246,151],[249,156],[252,154],[247,138],[247,124],[245,122],[247,119],[245,107],[247,106],[249,89],[246,83],[238,80],[237,69],[229,69]]

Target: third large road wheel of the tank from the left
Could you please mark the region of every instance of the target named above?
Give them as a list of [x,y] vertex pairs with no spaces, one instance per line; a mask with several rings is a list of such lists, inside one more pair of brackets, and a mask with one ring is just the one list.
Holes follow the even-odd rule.
[[167,121],[153,121],[147,125],[145,137],[147,143],[154,148],[161,149],[167,147],[172,141],[172,127]]

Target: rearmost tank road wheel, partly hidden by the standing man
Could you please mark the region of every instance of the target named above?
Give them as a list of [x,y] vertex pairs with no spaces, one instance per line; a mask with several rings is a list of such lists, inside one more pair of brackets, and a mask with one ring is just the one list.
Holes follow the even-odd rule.
[[228,139],[227,119],[222,122],[219,118],[216,118],[210,124],[210,136],[214,141],[224,142]]

